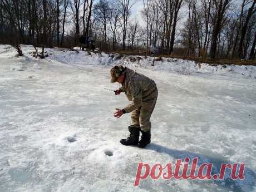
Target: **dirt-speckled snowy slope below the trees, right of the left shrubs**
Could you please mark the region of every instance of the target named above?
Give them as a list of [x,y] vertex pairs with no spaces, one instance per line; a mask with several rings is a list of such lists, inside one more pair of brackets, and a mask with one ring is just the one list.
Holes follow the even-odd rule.
[[119,65],[148,68],[156,71],[168,71],[176,73],[218,73],[221,75],[238,75],[256,78],[255,66],[218,65],[211,66],[207,63],[196,63],[175,58],[161,58],[145,56],[120,56],[119,54],[74,52],[74,51],[50,51],[51,58],[78,65]]

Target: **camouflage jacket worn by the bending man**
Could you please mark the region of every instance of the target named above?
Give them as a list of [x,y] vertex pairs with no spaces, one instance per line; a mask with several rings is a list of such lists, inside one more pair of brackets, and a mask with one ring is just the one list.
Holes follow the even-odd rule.
[[[139,108],[144,102],[151,102],[157,96],[155,81],[126,67],[125,81],[120,88],[131,104],[124,108],[126,113]],[[155,94],[156,92],[156,94]]]

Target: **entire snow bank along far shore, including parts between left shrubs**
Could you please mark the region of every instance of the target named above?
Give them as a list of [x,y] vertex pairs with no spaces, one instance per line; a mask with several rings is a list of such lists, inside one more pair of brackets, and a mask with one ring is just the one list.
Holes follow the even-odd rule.
[[[32,46],[22,45],[25,57],[32,57]],[[39,49],[38,52],[41,50]],[[196,63],[195,61],[182,60],[168,57],[151,56],[124,56],[118,53],[87,52],[64,48],[45,48],[48,59],[66,63],[68,65],[125,65],[128,67],[142,67],[154,71],[167,71],[190,75],[191,73],[216,73],[220,75],[238,75],[256,78],[256,66],[238,65],[217,65],[212,66],[208,63]],[[17,55],[14,48],[10,45],[0,45],[0,58],[13,57]]]

